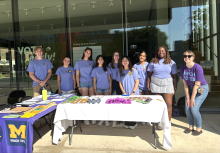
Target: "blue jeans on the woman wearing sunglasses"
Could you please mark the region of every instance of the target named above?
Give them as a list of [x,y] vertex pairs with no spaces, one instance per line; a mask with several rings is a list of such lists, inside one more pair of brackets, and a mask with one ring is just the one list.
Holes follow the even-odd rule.
[[[208,93],[209,93],[209,86],[208,84],[201,86],[204,90],[202,95],[200,93],[196,94],[195,97],[195,106],[192,108],[189,108],[188,105],[186,105],[186,116],[187,120],[189,122],[189,126],[193,127],[194,126],[194,121],[196,123],[196,128],[201,128],[202,127],[202,118],[201,114],[199,112],[199,108],[201,107],[202,103],[206,99]],[[193,91],[193,86],[189,86],[189,96],[191,98],[192,96],[192,91]],[[185,102],[186,102],[186,96],[185,96]]]

